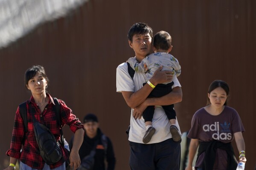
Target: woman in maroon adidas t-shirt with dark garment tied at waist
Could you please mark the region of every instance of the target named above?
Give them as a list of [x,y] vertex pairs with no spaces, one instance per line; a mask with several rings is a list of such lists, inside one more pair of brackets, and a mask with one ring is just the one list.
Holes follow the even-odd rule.
[[244,127],[238,112],[227,106],[229,86],[221,80],[213,81],[208,90],[207,106],[195,112],[188,138],[191,138],[188,167],[198,148],[196,170],[235,170],[232,140],[235,138],[239,161],[246,161],[242,132]]

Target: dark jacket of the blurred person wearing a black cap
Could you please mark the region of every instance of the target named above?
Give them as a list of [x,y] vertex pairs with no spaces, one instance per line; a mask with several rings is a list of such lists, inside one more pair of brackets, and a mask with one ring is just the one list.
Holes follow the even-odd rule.
[[[115,154],[112,146],[112,142],[108,137],[106,137],[107,141],[107,148],[105,149],[104,144],[101,140],[101,136],[103,133],[98,128],[97,135],[94,138],[89,138],[86,133],[84,136],[84,140],[82,142],[82,146],[79,149],[79,156],[82,161],[82,159],[89,155],[91,150],[95,147],[95,143],[98,141],[98,144],[96,146],[96,154],[94,156],[94,169],[93,170],[114,170],[115,169]],[[73,146],[73,140],[74,136],[71,139],[71,142],[69,144],[70,149],[72,149]],[[106,150],[106,152],[105,152]],[[107,161],[107,168],[105,167],[104,161]]]

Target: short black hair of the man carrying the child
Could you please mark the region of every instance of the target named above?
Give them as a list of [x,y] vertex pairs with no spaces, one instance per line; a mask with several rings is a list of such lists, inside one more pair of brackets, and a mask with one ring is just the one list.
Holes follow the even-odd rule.
[[150,28],[146,23],[135,23],[131,26],[128,32],[128,40],[132,41],[133,35],[141,35],[149,33],[150,37],[153,37],[153,29]]

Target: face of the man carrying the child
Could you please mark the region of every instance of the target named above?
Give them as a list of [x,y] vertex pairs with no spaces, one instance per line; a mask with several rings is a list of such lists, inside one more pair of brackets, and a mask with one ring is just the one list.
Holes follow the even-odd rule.
[[145,58],[150,53],[151,40],[149,33],[133,35],[129,46],[134,50],[136,58]]

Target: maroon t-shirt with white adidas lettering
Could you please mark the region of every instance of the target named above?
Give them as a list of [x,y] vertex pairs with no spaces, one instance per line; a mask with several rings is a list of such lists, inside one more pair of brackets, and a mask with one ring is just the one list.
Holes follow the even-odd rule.
[[[219,115],[211,115],[204,108],[195,112],[188,138],[199,141],[212,141],[213,139],[223,143],[229,143],[234,139],[234,133],[244,132],[244,127],[238,112],[225,106]],[[195,167],[202,167],[204,153],[202,153]],[[227,153],[217,149],[214,164],[215,170],[227,170]]]

